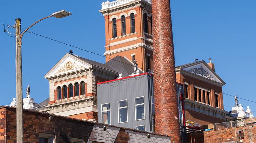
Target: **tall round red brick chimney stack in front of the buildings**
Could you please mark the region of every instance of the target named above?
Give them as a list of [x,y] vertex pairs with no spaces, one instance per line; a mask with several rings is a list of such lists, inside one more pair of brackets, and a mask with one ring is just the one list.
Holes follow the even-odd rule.
[[155,132],[181,142],[170,0],[152,0]]

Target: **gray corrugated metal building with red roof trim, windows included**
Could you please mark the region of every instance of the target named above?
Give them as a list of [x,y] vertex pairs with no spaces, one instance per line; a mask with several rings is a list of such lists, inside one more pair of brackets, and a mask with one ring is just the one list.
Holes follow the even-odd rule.
[[97,92],[99,122],[152,131],[153,75],[144,73],[99,83]]

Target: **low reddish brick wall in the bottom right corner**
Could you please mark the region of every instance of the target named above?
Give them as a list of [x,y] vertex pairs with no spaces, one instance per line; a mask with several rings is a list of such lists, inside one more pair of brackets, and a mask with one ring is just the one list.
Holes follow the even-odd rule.
[[[244,143],[256,142],[256,125],[236,127],[236,132],[244,130]],[[236,141],[235,128],[225,128],[220,130],[200,131],[187,134],[188,143],[222,143]],[[237,137],[237,141],[240,141]]]

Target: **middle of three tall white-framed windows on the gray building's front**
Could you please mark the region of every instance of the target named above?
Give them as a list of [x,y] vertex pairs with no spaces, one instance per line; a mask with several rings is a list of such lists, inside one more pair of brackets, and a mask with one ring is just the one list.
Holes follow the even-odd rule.
[[118,123],[128,122],[127,99],[117,101],[118,104]]

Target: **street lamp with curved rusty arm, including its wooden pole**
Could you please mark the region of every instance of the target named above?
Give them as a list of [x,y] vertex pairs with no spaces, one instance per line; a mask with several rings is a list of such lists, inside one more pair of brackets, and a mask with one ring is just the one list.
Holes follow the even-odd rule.
[[61,10],[59,12],[53,13],[50,16],[44,17],[35,23],[33,23],[30,27],[28,27],[24,32],[21,33],[21,19],[16,18],[15,19],[15,28],[16,28],[16,99],[17,99],[17,108],[16,108],[16,132],[17,132],[17,143],[23,143],[23,101],[22,101],[22,65],[21,65],[21,39],[22,36],[27,32],[29,28],[31,28],[36,23],[49,18],[49,17],[56,17],[56,18],[62,18],[71,15],[71,13],[66,12],[65,10]]

